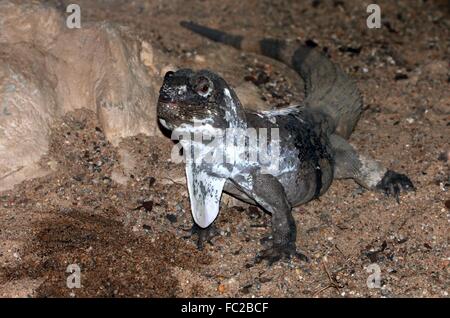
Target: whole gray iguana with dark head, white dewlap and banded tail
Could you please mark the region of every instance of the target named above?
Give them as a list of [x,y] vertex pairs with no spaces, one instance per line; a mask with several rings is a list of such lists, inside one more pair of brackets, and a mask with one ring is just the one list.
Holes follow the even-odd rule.
[[[361,115],[362,99],[353,81],[322,53],[293,42],[248,40],[192,22],[181,24],[213,41],[284,62],[296,70],[306,84],[306,98],[300,105],[255,112],[244,110],[233,89],[213,72],[182,69],[165,75],[158,118],[169,130],[184,127],[189,131],[193,120],[219,130],[279,129],[278,172],[269,174],[262,171],[262,165],[246,161],[187,164],[191,208],[200,227],[206,231],[211,228],[209,225],[216,214],[205,217],[205,213],[209,213],[208,206],[218,209],[223,190],[272,215],[272,245],[259,253],[257,260],[266,259],[272,264],[291,256],[306,259],[296,251],[292,207],[318,198],[334,179],[352,178],[367,189],[395,196],[397,201],[401,190],[414,189],[407,176],[358,154],[347,142]],[[209,203],[198,205],[198,200]],[[201,213],[194,213],[194,210]]]

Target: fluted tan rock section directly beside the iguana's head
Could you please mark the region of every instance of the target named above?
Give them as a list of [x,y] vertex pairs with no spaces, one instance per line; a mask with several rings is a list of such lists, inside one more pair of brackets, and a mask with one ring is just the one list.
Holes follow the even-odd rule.
[[[149,123],[156,121],[159,72],[141,62],[141,48],[127,29],[108,23],[60,35],[49,53],[63,60],[52,63],[49,70],[61,74],[56,88],[61,110],[96,111],[106,137],[115,145],[123,137],[154,135],[156,125]],[[149,71],[155,72],[154,78]]]

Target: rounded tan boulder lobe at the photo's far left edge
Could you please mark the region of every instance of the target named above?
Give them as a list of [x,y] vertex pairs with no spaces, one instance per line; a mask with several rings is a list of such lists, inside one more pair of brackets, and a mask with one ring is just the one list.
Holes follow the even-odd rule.
[[45,174],[38,160],[57,106],[44,59],[28,44],[0,47],[0,191]]

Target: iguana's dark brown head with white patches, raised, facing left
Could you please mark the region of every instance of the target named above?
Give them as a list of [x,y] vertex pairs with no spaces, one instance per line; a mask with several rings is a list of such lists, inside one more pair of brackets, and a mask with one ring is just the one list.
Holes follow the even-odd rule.
[[164,76],[158,118],[165,128],[174,130],[194,121],[214,128],[241,127],[243,116],[236,94],[217,74],[181,69]]

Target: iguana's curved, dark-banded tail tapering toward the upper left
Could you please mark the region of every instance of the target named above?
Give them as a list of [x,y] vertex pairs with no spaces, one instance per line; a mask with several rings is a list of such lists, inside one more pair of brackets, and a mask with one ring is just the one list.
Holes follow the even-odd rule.
[[193,22],[181,26],[210,40],[247,52],[265,55],[292,67],[305,81],[303,105],[327,114],[334,131],[348,138],[362,111],[362,98],[356,84],[322,52],[311,47],[277,39],[247,39]]

